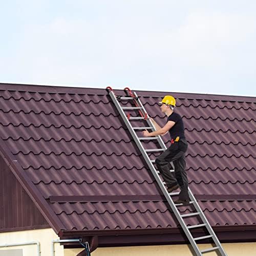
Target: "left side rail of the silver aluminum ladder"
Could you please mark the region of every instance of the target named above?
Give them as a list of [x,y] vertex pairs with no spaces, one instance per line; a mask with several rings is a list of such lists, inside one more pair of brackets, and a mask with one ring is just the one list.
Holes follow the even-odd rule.
[[161,178],[159,177],[159,175],[158,175],[158,173],[156,172],[156,169],[155,169],[153,163],[151,162],[151,159],[148,157],[148,155],[147,155],[146,152],[144,151],[144,148],[143,148],[141,142],[139,141],[139,139],[138,139],[138,137],[137,137],[137,134],[136,134],[135,131],[133,130],[133,127],[131,126],[131,124],[130,124],[129,120],[127,119],[127,117],[126,117],[124,111],[122,110],[122,108],[121,108],[119,102],[117,101],[116,96],[114,95],[114,93],[113,93],[112,91],[110,92],[110,96],[111,96],[113,102],[115,103],[115,105],[116,105],[116,107],[117,107],[117,109],[118,109],[118,111],[119,111],[119,113],[120,113],[120,115],[121,115],[123,121],[125,122],[127,128],[129,129],[129,131],[130,131],[130,133],[131,133],[131,135],[132,135],[134,141],[136,142],[137,146],[139,147],[139,150],[140,150],[141,154],[143,155],[143,157],[144,157],[144,159],[145,159],[147,165],[150,167],[151,172],[152,172],[152,174],[154,175],[154,177],[155,177],[155,179],[156,179],[156,181],[157,181],[157,183],[158,183],[158,185],[159,185],[159,187],[160,187],[160,189],[161,189],[163,195],[165,196],[165,198],[166,198],[166,200],[167,200],[169,206],[172,208],[172,210],[173,210],[173,212],[174,212],[176,218],[178,219],[179,223],[181,224],[182,229],[183,229],[184,232],[186,233],[186,236],[187,236],[187,238],[188,238],[188,240],[189,240],[191,246],[193,246],[193,249],[195,250],[196,254],[199,255],[199,256],[201,256],[202,253],[200,252],[199,248],[197,247],[197,244],[196,244],[196,242],[194,241],[194,238],[192,237],[190,231],[187,229],[187,226],[186,226],[184,220],[183,220],[182,217],[180,216],[180,213],[179,213],[178,209],[176,208],[176,206],[175,206],[175,204],[174,204],[174,202],[173,202],[173,199],[169,196],[167,189],[166,189],[165,186],[163,185],[163,183],[162,183],[162,181],[161,181]]

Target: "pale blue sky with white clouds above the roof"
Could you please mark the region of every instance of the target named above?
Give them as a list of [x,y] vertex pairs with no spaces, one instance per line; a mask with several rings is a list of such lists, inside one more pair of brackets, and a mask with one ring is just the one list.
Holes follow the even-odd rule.
[[256,96],[254,0],[0,3],[0,82]]

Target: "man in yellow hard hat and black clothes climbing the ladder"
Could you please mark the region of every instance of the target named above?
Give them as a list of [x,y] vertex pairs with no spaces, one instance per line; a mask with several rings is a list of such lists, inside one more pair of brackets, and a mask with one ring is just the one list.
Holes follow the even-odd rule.
[[[188,182],[185,171],[185,152],[188,144],[184,134],[184,124],[181,116],[174,112],[176,101],[173,96],[167,95],[158,103],[161,105],[161,111],[167,116],[167,122],[164,127],[161,128],[153,120],[153,118],[151,118],[157,131],[149,133],[147,130],[145,130],[143,135],[145,137],[151,137],[165,135],[169,132],[171,138],[170,146],[159,157],[156,158],[156,165],[167,185],[167,191],[169,193],[180,187],[181,191],[179,194],[179,199],[174,201],[174,203],[188,205]],[[169,171],[170,162],[173,162],[174,164],[176,179]]]

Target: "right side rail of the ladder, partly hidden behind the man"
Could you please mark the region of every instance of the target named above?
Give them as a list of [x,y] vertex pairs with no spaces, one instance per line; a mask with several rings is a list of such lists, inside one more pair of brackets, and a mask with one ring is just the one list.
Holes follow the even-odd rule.
[[[146,112],[146,110],[145,110],[143,104],[141,103],[141,101],[140,101],[138,95],[136,94],[136,92],[133,92],[133,93],[134,93],[134,95],[136,96],[136,98],[137,98],[137,100],[138,100],[140,106],[142,107],[143,112],[147,114],[147,112]],[[156,131],[156,128],[155,128],[155,125],[153,124],[153,122],[152,122],[150,119],[147,119],[146,121],[147,121],[148,125],[149,125],[149,126],[152,125],[152,126],[154,127],[155,131]],[[158,137],[159,137],[159,144],[160,144],[160,146],[161,146],[164,150],[166,150],[167,147],[166,147],[166,145],[164,144],[164,142],[163,142],[161,136],[158,135]],[[170,164],[172,165],[172,167],[173,167],[173,169],[174,169],[174,164],[173,164],[173,162],[170,162]],[[221,245],[221,243],[220,243],[218,237],[216,236],[216,233],[214,232],[214,230],[212,229],[211,225],[209,224],[207,218],[205,217],[205,215],[204,215],[204,213],[203,213],[203,210],[201,209],[200,205],[198,204],[198,202],[197,202],[195,196],[193,195],[193,193],[191,192],[191,190],[190,190],[189,187],[188,187],[188,194],[189,194],[189,199],[190,199],[190,201],[194,201],[194,206],[195,206],[196,210],[201,213],[200,217],[201,217],[203,223],[206,223],[206,224],[207,224],[207,225],[206,225],[206,228],[207,228],[208,232],[213,235],[212,239],[214,240],[215,244],[220,247],[219,250],[220,250],[220,252],[221,252],[221,255],[226,256],[227,254],[225,253],[225,251],[224,251],[224,249],[223,249],[223,247],[222,247],[222,245]]]

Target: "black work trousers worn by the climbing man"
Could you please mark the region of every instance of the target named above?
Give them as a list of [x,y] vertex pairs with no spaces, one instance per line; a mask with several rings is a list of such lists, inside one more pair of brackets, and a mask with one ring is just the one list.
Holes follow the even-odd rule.
[[[187,141],[185,139],[180,139],[178,142],[170,144],[170,147],[168,147],[166,151],[156,158],[157,168],[167,187],[172,187],[179,184],[181,190],[179,200],[182,201],[189,200],[188,181],[185,171],[185,152],[187,151],[187,146]],[[170,162],[173,162],[174,164],[175,177],[170,172],[170,169],[172,169]]]

